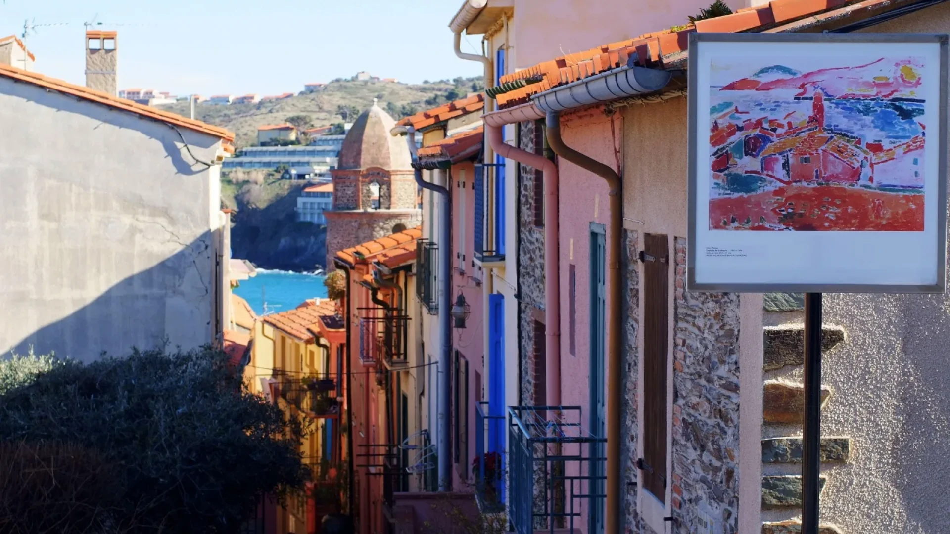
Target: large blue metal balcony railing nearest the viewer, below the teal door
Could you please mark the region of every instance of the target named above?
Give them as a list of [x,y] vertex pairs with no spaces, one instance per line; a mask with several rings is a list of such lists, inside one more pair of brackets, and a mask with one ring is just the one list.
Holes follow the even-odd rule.
[[517,534],[603,531],[607,440],[583,429],[580,416],[580,407],[508,409],[508,518]]

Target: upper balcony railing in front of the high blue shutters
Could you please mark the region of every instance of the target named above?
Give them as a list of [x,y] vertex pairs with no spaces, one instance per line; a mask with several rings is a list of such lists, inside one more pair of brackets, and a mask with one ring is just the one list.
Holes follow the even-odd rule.
[[504,160],[475,165],[475,258],[504,260]]

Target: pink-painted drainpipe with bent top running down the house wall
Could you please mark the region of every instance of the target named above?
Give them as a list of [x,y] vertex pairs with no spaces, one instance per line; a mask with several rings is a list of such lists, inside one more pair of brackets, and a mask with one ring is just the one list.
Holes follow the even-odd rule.
[[[544,354],[545,403],[561,406],[561,271],[558,257],[558,166],[538,154],[504,143],[502,128],[511,119],[498,112],[485,116],[488,143],[496,154],[541,169],[544,176]],[[521,117],[519,117],[521,118]]]

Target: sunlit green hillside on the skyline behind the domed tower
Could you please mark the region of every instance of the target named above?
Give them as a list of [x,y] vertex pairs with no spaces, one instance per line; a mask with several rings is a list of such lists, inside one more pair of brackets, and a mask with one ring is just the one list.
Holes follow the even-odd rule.
[[[372,99],[375,98],[381,107],[399,120],[484,88],[481,76],[427,81],[418,85],[334,80],[319,91],[298,94],[284,100],[239,105],[199,103],[195,105],[195,118],[235,132],[237,147],[242,147],[257,143],[258,126],[282,124],[295,116],[295,123],[306,127],[352,121],[355,114],[372,105]],[[162,105],[161,108],[185,117],[191,112],[187,102]]]

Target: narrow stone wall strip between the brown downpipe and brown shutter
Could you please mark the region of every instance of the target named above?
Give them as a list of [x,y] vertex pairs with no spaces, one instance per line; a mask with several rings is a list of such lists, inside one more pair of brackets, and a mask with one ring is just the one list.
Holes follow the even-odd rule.
[[626,516],[626,531],[640,532],[637,529],[637,486],[629,485],[628,482],[637,482],[639,472],[637,471],[637,440],[639,439],[639,426],[637,425],[637,381],[639,380],[639,349],[637,344],[637,334],[639,333],[639,307],[640,307],[640,281],[639,281],[639,261],[637,261],[637,249],[639,233],[633,230],[623,231],[623,253],[626,273],[624,273],[624,315],[627,317],[623,325],[623,357],[625,366],[623,372],[623,429],[620,435],[623,440],[620,442],[620,457],[623,458],[623,483],[625,494],[623,497],[623,510]]

